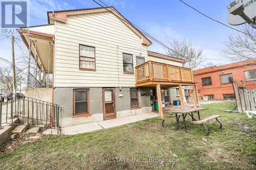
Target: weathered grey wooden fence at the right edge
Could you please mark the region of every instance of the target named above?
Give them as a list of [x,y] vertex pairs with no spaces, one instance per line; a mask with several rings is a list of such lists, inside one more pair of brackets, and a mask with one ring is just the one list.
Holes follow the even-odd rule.
[[238,87],[237,82],[233,82],[238,112],[244,113],[246,110],[256,110],[256,94],[254,93],[253,89],[246,89],[243,81],[241,81],[241,83],[242,87]]

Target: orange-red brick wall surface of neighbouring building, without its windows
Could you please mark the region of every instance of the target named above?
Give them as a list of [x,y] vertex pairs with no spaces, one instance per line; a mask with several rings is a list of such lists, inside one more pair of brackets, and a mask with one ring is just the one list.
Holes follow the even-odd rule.
[[[198,83],[199,96],[213,94],[215,99],[223,99],[223,94],[233,94],[232,84],[221,84],[220,75],[232,74],[233,80],[241,86],[241,81],[245,83],[246,88],[256,88],[256,81],[246,81],[244,71],[256,69],[256,63],[253,61],[242,61],[222,66],[212,66],[194,70],[194,81]],[[210,86],[202,86],[202,78],[211,77]]]

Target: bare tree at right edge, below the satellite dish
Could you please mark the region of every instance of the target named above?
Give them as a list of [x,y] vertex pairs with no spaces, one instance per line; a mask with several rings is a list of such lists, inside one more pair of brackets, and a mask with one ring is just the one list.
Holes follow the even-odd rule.
[[256,62],[256,29],[248,25],[241,26],[236,35],[229,35],[223,42],[226,46],[222,52],[233,61],[254,60]]

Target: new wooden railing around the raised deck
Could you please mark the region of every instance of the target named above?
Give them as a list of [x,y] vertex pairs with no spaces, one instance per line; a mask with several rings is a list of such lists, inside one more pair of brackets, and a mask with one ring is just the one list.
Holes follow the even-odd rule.
[[136,84],[148,81],[157,82],[193,82],[191,69],[147,61],[135,67]]

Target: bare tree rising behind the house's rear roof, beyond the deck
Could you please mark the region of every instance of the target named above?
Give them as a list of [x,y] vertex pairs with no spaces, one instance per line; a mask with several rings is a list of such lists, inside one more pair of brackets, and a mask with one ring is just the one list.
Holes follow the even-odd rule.
[[172,50],[165,48],[168,56],[184,59],[184,67],[195,69],[205,61],[203,49],[194,47],[191,42],[187,42],[185,39],[175,39],[169,42],[169,46]]

